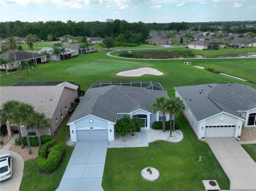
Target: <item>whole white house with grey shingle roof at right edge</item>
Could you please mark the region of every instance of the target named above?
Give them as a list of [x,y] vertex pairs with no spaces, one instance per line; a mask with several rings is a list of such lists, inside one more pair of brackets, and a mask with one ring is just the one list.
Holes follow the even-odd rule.
[[242,127],[256,128],[256,90],[251,87],[206,84],[174,89],[198,138],[238,137]]

